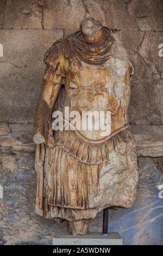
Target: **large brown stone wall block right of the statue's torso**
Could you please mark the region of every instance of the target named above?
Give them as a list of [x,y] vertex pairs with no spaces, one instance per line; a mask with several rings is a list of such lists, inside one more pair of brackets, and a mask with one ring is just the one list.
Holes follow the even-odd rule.
[[163,32],[123,31],[123,45],[134,65],[129,104],[130,124],[163,124]]

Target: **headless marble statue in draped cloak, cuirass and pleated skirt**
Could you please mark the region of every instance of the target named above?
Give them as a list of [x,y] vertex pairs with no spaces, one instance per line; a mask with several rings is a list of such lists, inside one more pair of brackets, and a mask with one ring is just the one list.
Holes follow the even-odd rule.
[[[130,208],[138,180],[135,141],[128,123],[133,66],[120,31],[92,18],[54,42],[34,121],[37,214],[68,220],[86,234],[90,218],[110,206]],[[109,111],[111,130],[53,129],[53,113]],[[68,120],[69,122],[71,121]]]

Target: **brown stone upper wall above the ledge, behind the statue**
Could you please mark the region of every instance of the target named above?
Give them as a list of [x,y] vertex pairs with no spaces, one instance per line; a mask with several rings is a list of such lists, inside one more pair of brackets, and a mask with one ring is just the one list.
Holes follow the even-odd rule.
[[158,46],[163,41],[162,14],[160,0],[2,0],[0,121],[33,122],[45,52],[55,40],[79,29],[84,17],[91,16],[104,26],[122,30],[123,44],[135,70],[128,110],[130,124],[161,125],[163,58],[158,55]]

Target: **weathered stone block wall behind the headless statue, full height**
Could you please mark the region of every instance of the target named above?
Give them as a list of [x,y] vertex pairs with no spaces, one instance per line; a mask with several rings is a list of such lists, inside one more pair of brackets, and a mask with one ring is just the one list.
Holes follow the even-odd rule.
[[[68,228],[66,221],[58,225],[34,212],[36,173],[31,129],[45,70],[43,56],[55,40],[77,31],[85,17],[93,17],[104,26],[121,30],[123,45],[135,71],[131,82],[130,124],[135,125],[136,130],[136,125],[148,126],[147,130],[143,126],[139,134],[140,179],[136,202],[131,209],[110,210],[109,230],[120,231],[125,244],[156,245],[162,241],[162,199],[158,197],[158,185],[163,183],[163,139],[159,133],[155,141],[152,131],[157,131],[154,126],[163,125],[163,57],[158,54],[159,44],[163,43],[163,2],[1,0],[2,244],[52,244],[54,231]],[[22,124],[21,128],[18,124]],[[141,143],[145,133],[149,136]],[[90,230],[101,229],[102,214],[99,214],[91,221]]]

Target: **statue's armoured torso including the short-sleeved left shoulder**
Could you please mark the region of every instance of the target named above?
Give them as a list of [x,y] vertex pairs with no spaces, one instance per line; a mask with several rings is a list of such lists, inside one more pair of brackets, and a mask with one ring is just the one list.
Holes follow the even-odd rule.
[[[128,127],[127,108],[133,66],[125,51],[119,57],[116,56],[114,51],[117,42],[112,36],[114,33],[108,29],[105,30],[109,35],[109,39],[106,39],[109,46],[106,48],[101,43],[97,44],[95,49],[88,49],[85,42],[77,39],[80,38],[80,32],[69,36],[67,40],[56,42],[46,54],[45,62],[48,64],[48,69],[44,78],[56,83],[64,79],[62,82],[65,85],[65,100],[62,100],[64,95],[60,93],[58,99],[60,102],[56,104],[59,108],[55,107],[55,111],[61,108],[64,113],[64,108],[67,106],[70,112],[78,111],[81,119],[83,112],[110,111],[111,134],[115,134],[125,126]],[[87,59],[88,56],[90,57],[89,53],[93,52],[95,57],[95,50],[98,52],[97,59],[90,61],[90,58]],[[86,56],[80,54],[86,51]],[[103,51],[104,54],[102,54]],[[108,137],[102,136],[100,129],[98,131],[78,130],[78,132],[91,141],[98,142]]]

